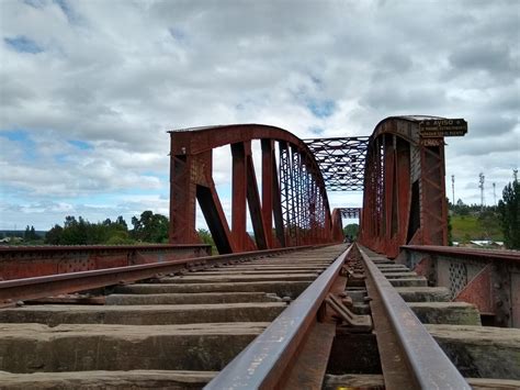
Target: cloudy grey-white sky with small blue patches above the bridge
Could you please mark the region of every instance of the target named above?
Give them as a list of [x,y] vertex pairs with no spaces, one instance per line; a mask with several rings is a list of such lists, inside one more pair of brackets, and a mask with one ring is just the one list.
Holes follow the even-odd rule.
[[[517,0],[0,0],[0,230],[168,215],[167,131],[189,126],[308,138],[464,118],[445,157],[465,203],[479,172],[493,204],[520,165]],[[215,166],[227,212],[229,153]]]

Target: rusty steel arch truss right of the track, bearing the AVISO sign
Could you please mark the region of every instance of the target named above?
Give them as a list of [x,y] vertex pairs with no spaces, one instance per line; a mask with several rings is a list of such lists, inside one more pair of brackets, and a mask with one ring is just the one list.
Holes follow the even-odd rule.
[[358,239],[396,257],[406,244],[448,245],[444,135],[464,135],[462,119],[391,116],[369,141]]

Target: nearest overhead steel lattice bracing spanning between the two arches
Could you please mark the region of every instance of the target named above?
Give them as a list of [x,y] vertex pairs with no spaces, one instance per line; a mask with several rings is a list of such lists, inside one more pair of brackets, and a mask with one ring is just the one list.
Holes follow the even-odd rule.
[[368,136],[304,140],[329,191],[362,191]]

